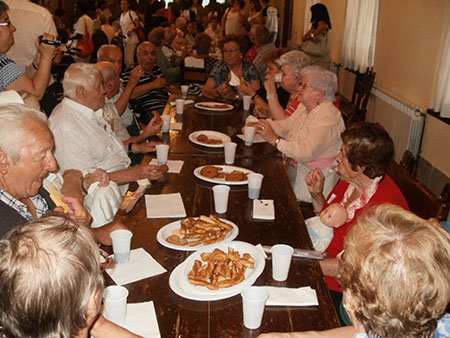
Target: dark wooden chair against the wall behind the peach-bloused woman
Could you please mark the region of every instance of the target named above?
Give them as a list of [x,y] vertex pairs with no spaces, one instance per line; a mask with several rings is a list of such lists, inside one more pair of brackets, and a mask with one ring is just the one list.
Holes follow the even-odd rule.
[[368,68],[365,73],[354,70],[348,71],[355,74],[356,79],[351,101],[340,98],[342,117],[347,126],[354,122],[365,120],[370,91],[375,82],[375,72],[372,68]]

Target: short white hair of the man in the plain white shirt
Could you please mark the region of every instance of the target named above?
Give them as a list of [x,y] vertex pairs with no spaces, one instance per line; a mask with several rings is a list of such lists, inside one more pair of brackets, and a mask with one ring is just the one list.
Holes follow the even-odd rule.
[[91,63],[77,62],[71,64],[64,73],[64,79],[62,81],[64,96],[69,99],[74,99],[78,86],[85,89],[92,89],[97,76],[102,77],[102,74]]

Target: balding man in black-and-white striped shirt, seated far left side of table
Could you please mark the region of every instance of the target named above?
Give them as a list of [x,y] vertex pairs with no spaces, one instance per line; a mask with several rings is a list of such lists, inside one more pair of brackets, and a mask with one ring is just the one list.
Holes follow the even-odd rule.
[[[138,65],[144,70],[137,86],[131,94],[130,104],[139,121],[148,124],[153,116],[150,112],[156,110],[162,113],[169,98],[165,88],[167,82],[161,69],[156,66],[156,46],[148,41],[141,43],[136,52]],[[130,80],[131,72],[138,65],[132,65],[123,74],[125,84]]]

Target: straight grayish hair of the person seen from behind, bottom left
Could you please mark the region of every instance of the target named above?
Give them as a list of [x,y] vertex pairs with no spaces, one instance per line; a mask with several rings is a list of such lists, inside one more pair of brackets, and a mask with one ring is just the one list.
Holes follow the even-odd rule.
[[89,228],[44,216],[0,241],[0,320],[17,337],[73,337],[103,291]]

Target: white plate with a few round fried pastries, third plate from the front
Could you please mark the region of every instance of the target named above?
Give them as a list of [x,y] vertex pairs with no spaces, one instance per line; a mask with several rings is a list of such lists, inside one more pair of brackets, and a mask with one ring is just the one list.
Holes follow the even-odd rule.
[[235,167],[233,165],[205,165],[194,170],[194,176],[211,183],[241,185],[247,184],[247,175],[250,169]]

